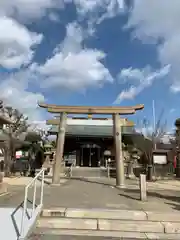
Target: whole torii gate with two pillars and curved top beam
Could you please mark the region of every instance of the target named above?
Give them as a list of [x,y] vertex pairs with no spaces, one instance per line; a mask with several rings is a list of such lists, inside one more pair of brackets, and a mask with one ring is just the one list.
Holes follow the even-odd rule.
[[64,152],[67,114],[104,114],[112,115],[113,135],[116,160],[116,186],[124,186],[124,160],[122,157],[122,136],[119,115],[131,115],[144,108],[143,104],[129,107],[102,107],[102,106],[59,106],[54,104],[39,103],[39,107],[46,108],[50,113],[60,113],[60,121],[57,135],[56,158],[52,184],[60,183],[61,161]]

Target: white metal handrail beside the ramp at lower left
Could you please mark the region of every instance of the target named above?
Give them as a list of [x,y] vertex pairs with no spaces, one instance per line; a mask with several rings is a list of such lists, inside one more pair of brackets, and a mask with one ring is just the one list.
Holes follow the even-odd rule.
[[[24,228],[25,228],[25,216],[27,212],[27,202],[28,200],[28,190],[29,188],[34,185],[34,193],[33,193],[33,201],[32,201],[32,212],[31,217],[33,217],[33,213],[37,207],[42,207],[43,205],[43,195],[44,195],[44,171],[45,169],[42,169],[33,179],[32,181],[25,187],[25,195],[24,195],[24,203],[23,203],[23,213],[21,218],[21,228],[20,228],[20,237],[24,236]],[[36,205],[36,190],[37,190],[37,180],[41,177],[41,193],[40,193],[40,203]]]

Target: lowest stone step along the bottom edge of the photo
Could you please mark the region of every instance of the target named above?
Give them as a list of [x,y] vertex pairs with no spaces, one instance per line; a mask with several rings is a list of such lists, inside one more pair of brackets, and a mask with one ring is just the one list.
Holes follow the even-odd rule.
[[51,228],[37,228],[30,236],[29,240],[179,240],[180,234],[165,234],[165,233],[138,233],[138,232],[119,232],[119,231],[90,231],[90,230],[62,230]]

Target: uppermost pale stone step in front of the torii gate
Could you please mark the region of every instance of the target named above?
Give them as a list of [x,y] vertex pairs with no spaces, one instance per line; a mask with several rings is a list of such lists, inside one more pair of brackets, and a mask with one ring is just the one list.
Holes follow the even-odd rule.
[[42,217],[69,217],[90,219],[118,219],[133,221],[179,222],[179,212],[149,212],[125,209],[103,208],[54,208],[44,209]]

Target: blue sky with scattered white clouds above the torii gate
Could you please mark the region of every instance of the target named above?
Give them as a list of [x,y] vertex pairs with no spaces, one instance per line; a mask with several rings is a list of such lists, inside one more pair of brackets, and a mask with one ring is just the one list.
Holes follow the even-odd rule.
[[[123,4],[124,3],[124,4]],[[152,122],[179,117],[180,1],[14,0],[0,3],[0,93],[32,121],[37,101],[135,105]]]

